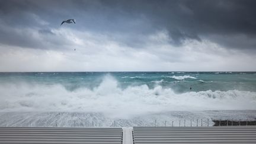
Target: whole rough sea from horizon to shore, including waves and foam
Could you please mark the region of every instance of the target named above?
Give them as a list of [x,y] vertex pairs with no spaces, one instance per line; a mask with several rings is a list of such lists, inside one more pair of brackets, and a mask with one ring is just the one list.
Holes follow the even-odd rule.
[[1,72],[0,126],[213,126],[256,119],[256,72]]

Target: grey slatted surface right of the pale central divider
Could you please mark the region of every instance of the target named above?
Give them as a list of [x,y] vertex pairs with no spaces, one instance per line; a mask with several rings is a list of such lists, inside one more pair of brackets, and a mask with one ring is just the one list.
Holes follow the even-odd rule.
[[256,143],[256,127],[133,127],[135,144]]

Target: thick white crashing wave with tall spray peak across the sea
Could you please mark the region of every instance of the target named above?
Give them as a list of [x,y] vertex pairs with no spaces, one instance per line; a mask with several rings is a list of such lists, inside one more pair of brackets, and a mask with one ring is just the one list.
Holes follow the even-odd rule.
[[1,84],[0,112],[76,111],[129,117],[163,111],[255,110],[256,92],[200,91],[176,94],[156,85],[119,87],[111,75],[94,89],[69,91],[62,85]]

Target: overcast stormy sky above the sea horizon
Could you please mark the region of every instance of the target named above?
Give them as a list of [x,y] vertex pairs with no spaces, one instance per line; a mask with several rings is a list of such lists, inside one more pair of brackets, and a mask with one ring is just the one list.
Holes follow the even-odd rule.
[[0,71],[256,71],[255,7],[0,0]]

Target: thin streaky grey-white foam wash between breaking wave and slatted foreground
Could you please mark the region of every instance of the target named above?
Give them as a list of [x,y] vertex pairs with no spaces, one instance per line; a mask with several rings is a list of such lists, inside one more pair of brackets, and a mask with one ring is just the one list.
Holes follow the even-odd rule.
[[[254,120],[256,111],[169,111],[150,113],[117,119],[101,113],[78,112],[5,112],[0,113],[0,126],[21,127],[131,127],[131,126],[197,126],[201,120],[203,126],[212,126],[212,120]],[[185,120],[185,121],[184,121]],[[191,120],[191,121],[190,121]],[[209,123],[208,121],[209,120]],[[201,121],[200,121],[201,122]],[[200,123],[199,122],[199,123]],[[165,125],[166,124],[166,125]],[[191,125],[190,125],[191,124]],[[201,123],[200,123],[201,125]]]

